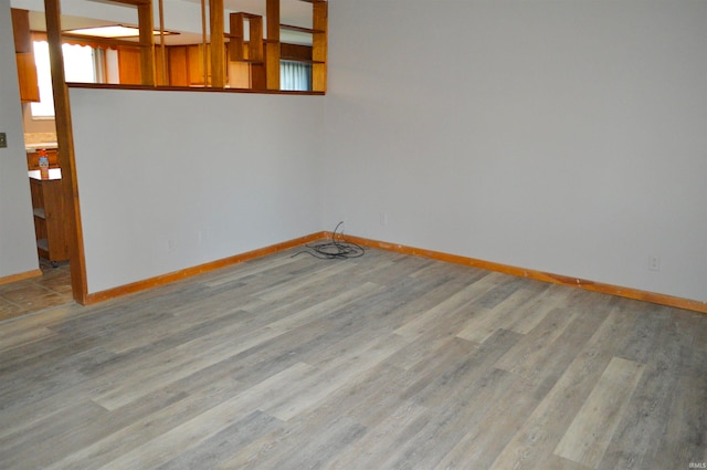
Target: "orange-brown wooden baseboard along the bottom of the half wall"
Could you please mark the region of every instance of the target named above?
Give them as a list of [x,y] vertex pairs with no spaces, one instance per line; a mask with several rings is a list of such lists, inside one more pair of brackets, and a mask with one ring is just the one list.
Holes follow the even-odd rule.
[[156,278],[146,279],[143,281],[133,282],[130,284],[122,285],[106,291],[96,292],[89,294],[86,299],[86,305],[104,302],[110,299],[119,297],[123,295],[133,294],[148,289],[157,288],[160,285],[169,284],[175,281],[179,281],[194,275],[204,274],[207,272],[215,271],[221,268],[230,267],[232,264],[242,263],[244,261],[253,260],[255,258],[265,257],[276,253],[278,251],[288,250],[300,244],[310,243],[316,240],[325,238],[325,232],[316,232],[305,237],[296,238],[293,240],[284,241],[282,243],[272,244],[270,247],[260,248],[257,250],[247,251],[245,253],[236,254],[230,258],[224,258],[209,263],[199,264],[192,268],[187,268],[180,271],[170,272],[167,274],[158,275]]

